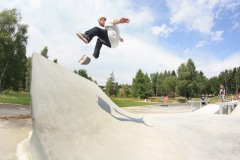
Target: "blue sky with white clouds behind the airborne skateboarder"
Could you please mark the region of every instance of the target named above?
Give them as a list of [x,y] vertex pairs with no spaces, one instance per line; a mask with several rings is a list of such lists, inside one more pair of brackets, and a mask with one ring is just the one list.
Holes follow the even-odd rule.
[[[191,58],[208,78],[240,66],[239,0],[0,0],[0,9],[17,8],[29,25],[27,56],[48,46],[49,59],[69,69],[85,69],[105,85],[113,72],[118,83],[132,83],[144,73],[177,70]],[[92,55],[96,38],[86,45],[75,35],[97,26],[97,19],[128,17],[119,25],[124,42],[102,47],[99,59],[77,63]]]

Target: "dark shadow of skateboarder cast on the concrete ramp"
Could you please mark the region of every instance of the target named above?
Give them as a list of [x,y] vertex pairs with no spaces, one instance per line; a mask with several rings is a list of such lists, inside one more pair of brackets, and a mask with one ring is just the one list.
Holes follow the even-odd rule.
[[120,111],[118,111],[115,108],[112,108],[115,112],[115,115],[120,115],[121,117],[113,115],[113,112],[111,110],[110,105],[100,97],[98,97],[98,102],[97,103],[105,112],[109,113],[113,118],[115,118],[119,121],[129,121],[129,122],[144,124],[148,127],[153,127],[153,126],[149,126],[148,124],[146,124],[143,120],[143,117],[142,118],[133,118],[133,117],[130,117],[126,114],[121,113]]

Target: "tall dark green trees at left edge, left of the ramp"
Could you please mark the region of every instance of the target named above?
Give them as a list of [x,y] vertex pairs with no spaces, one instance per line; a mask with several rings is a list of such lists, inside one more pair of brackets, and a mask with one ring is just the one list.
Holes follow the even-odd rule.
[[0,88],[24,90],[28,26],[16,9],[0,12]]

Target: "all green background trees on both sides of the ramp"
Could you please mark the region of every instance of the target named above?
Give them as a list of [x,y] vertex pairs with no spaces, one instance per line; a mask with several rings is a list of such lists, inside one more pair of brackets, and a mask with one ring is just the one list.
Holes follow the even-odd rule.
[[[29,91],[31,58],[26,56],[28,25],[21,23],[21,14],[17,9],[0,12],[0,91]],[[48,58],[47,46],[41,55]],[[57,63],[57,59],[54,60]],[[74,70],[89,80],[86,70]],[[109,96],[148,98],[151,96],[184,96],[218,94],[223,84],[228,94],[240,90],[240,67],[222,71],[219,76],[210,79],[202,71],[197,71],[194,62],[189,59],[182,63],[177,71],[156,72],[148,75],[139,69],[132,84],[118,84],[113,73],[107,79],[105,92]],[[97,83],[95,81],[95,83]]]

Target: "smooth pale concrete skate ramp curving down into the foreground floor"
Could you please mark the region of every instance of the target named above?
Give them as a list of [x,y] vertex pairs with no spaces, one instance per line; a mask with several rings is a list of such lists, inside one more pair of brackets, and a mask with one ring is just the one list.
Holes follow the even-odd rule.
[[231,115],[214,114],[207,105],[198,112],[140,116],[37,53],[31,102],[32,133],[20,145],[26,159],[240,159],[239,105]]

